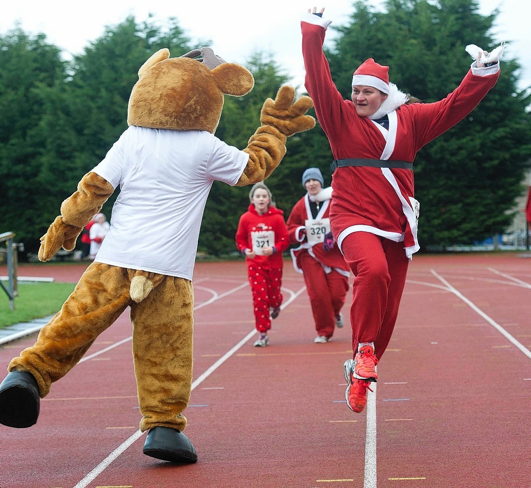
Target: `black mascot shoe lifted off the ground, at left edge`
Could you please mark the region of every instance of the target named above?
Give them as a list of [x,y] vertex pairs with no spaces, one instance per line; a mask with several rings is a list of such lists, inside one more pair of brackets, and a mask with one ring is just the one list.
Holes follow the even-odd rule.
[[0,423],[16,429],[31,427],[39,416],[39,387],[31,373],[11,371],[0,384]]

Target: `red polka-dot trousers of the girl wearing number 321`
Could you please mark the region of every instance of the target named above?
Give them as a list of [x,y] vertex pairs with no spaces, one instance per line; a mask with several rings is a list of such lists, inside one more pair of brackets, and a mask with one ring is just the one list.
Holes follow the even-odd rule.
[[264,268],[248,262],[247,275],[253,292],[256,330],[267,332],[271,328],[269,307],[280,307],[282,303],[282,268]]

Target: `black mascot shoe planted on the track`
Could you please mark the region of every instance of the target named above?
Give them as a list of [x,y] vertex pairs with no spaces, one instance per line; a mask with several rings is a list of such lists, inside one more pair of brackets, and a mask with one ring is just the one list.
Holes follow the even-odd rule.
[[144,442],[144,454],[172,463],[196,463],[198,455],[190,439],[180,430],[169,427],[153,427]]

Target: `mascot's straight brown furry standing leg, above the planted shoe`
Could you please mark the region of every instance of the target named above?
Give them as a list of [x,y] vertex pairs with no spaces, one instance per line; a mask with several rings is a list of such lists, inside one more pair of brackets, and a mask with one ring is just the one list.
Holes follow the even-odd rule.
[[162,426],[183,430],[193,366],[193,287],[166,276],[131,306],[133,360],[142,431]]

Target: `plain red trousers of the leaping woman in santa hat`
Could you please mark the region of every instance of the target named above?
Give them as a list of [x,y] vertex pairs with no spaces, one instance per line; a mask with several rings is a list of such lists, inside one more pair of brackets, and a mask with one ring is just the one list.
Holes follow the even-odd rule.
[[353,353],[358,343],[374,342],[374,354],[380,359],[395,328],[406,283],[409,260],[404,242],[353,232],[341,249],[354,273],[350,307]]

